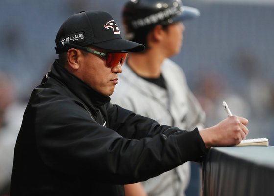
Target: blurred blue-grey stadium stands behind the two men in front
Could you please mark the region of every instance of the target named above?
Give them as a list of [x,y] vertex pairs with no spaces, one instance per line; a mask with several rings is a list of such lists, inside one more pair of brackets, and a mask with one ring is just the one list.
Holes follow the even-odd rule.
[[[206,111],[206,127],[227,114],[249,119],[249,138],[274,145],[274,0],[182,0],[201,16],[184,23],[181,53],[172,57]],[[0,186],[32,89],[58,56],[55,36],[72,14],[109,12],[122,31],[125,0],[1,0]],[[5,149],[5,150],[3,150]],[[10,153],[12,154],[12,153]],[[11,163],[10,163],[11,162]],[[7,174],[8,175],[8,174]],[[3,188],[4,190],[4,188]],[[2,191],[2,195],[4,191]]]

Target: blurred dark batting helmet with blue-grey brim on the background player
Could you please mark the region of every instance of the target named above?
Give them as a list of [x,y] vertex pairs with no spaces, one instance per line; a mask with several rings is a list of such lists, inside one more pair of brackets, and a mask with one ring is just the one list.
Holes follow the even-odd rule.
[[156,25],[169,25],[200,16],[198,9],[183,6],[181,0],[128,0],[123,8],[126,33]]

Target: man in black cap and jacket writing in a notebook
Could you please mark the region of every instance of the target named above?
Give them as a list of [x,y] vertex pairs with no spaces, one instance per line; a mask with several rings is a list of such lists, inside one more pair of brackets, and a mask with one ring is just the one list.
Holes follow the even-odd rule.
[[186,132],[111,104],[124,51],[144,49],[119,33],[101,11],[75,14],[61,26],[61,63],[33,90],[23,117],[11,196],[124,196],[123,184],[202,161],[209,147],[246,137],[248,121],[240,117]]

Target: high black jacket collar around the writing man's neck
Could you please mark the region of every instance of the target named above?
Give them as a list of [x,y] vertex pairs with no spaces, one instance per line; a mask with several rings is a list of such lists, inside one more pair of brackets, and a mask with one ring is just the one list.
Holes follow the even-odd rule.
[[96,113],[98,113],[99,108],[110,101],[110,97],[100,94],[86,82],[70,73],[59,63],[58,59],[55,59],[48,75],[65,85],[75,96],[80,98],[91,111],[96,110]]

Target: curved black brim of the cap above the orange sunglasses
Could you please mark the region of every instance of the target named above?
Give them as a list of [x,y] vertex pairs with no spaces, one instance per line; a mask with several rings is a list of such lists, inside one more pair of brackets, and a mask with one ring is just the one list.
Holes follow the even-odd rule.
[[127,51],[127,52],[141,52],[145,49],[145,46],[125,39],[114,39],[105,42],[92,44],[102,49]]

